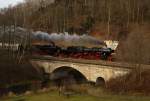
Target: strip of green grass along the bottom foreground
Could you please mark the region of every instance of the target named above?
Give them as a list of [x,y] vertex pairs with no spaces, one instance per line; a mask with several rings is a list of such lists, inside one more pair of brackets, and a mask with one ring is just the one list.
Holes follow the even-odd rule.
[[15,96],[0,101],[150,101],[150,96],[102,95],[95,97],[76,94],[67,98],[64,95],[59,95],[56,91],[52,91],[26,96]]

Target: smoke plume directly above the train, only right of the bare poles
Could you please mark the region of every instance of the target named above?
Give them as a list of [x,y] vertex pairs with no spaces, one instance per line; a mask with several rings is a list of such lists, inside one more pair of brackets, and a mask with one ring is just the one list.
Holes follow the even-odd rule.
[[45,32],[37,31],[33,32],[34,39],[53,41],[57,45],[61,46],[87,46],[87,47],[102,47],[105,46],[105,43],[101,40],[98,40],[92,36],[83,34],[77,35],[69,33],[52,33],[48,34]]

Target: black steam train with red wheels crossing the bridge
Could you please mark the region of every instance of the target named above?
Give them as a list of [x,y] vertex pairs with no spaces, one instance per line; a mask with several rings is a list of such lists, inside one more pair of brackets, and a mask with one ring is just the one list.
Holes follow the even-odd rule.
[[33,45],[32,53],[38,55],[50,55],[54,57],[88,59],[88,60],[112,60],[111,48],[87,48],[84,46],[59,47],[57,45]]

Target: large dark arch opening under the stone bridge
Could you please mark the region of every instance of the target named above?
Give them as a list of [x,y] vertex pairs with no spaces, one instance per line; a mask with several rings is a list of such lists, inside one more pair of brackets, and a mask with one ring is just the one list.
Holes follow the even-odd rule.
[[65,81],[68,81],[67,83],[69,83],[70,79],[75,80],[74,83],[87,82],[87,78],[82,72],[69,66],[61,66],[61,67],[55,68],[51,72],[50,79],[59,80],[59,81],[60,79],[65,79]]

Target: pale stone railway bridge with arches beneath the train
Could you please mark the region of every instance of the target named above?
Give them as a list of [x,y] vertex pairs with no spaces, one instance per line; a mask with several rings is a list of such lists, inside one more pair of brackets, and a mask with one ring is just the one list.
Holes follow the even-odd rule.
[[112,78],[126,75],[136,64],[117,63],[97,60],[62,59],[51,56],[35,56],[31,60],[32,65],[42,68],[50,78],[71,74],[79,79],[84,78],[90,82],[103,79],[105,82]]

